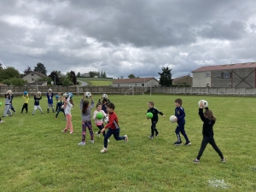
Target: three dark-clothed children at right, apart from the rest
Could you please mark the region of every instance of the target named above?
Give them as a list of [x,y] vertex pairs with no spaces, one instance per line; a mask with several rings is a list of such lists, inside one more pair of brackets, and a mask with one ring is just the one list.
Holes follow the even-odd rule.
[[[185,131],[185,110],[182,107],[183,101],[181,99],[175,100],[175,121],[177,122],[177,127],[175,130],[176,136],[177,136],[177,142],[175,142],[175,145],[181,145],[183,142],[180,137],[180,133],[183,135],[183,137],[186,140],[186,143],[184,145],[190,145],[191,142],[189,141],[189,137],[186,134]],[[212,145],[212,148],[218,153],[220,160],[222,162],[225,162],[225,158],[218,148],[218,146],[215,143],[214,137],[213,137],[213,125],[216,122],[216,118],[213,116],[213,113],[209,108],[205,108],[205,112],[203,112],[204,103],[200,102],[200,108],[199,108],[199,115],[201,120],[203,121],[203,139],[201,142],[201,148],[199,150],[199,153],[193,162],[199,163],[201,159],[201,155],[203,154],[205,148],[207,147],[207,144],[210,143]],[[151,135],[148,137],[149,139],[153,139],[154,137],[159,135],[159,131],[156,129],[156,124],[158,122],[158,113],[162,115],[164,118],[166,117],[164,113],[160,112],[157,108],[154,108],[154,102],[148,102],[148,113],[153,113],[153,118],[151,118]],[[148,118],[147,118],[148,119]]]

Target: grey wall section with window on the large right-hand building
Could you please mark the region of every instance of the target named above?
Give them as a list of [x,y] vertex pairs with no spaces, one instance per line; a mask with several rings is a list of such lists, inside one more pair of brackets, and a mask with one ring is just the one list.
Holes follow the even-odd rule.
[[[224,73],[230,73],[230,77],[225,77]],[[254,88],[255,69],[239,68],[212,71],[212,87]]]

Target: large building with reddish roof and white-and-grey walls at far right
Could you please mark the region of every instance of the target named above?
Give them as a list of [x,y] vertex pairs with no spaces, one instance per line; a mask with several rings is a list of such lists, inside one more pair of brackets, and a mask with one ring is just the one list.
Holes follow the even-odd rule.
[[192,71],[193,87],[256,87],[256,62],[200,67]]

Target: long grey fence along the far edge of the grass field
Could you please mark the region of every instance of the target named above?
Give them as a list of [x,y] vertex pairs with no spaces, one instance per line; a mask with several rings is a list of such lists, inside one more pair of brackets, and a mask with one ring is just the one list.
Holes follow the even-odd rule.
[[8,90],[12,90],[17,96],[21,96],[26,90],[30,95],[41,91],[46,93],[48,89],[53,92],[72,92],[73,95],[81,95],[86,91],[91,94],[169,94],[169,95],[212,95],[212,96],[256,96],[256,88],[211,88],[211,87],[113,87],[113,86],[70,86],[70,87],[47,87],[47,86],[0,86],[0,94],[3,96]]

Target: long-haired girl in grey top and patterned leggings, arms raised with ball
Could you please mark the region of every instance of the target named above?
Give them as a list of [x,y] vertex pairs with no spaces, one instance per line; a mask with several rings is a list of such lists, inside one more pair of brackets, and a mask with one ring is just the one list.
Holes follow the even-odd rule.
[[[94,135],[92,131],[91,121],[90,121],[90,110],[94,107],[94,101],[92,96],[90,96],[91,101],[84,101],[84,96],[80,101],[80,109],[82,115],[82,142],[79,145],[85,145],[86,127],[90,132],[90,143],[94,143]],[[90,104],[90,107],[89,107]]]

